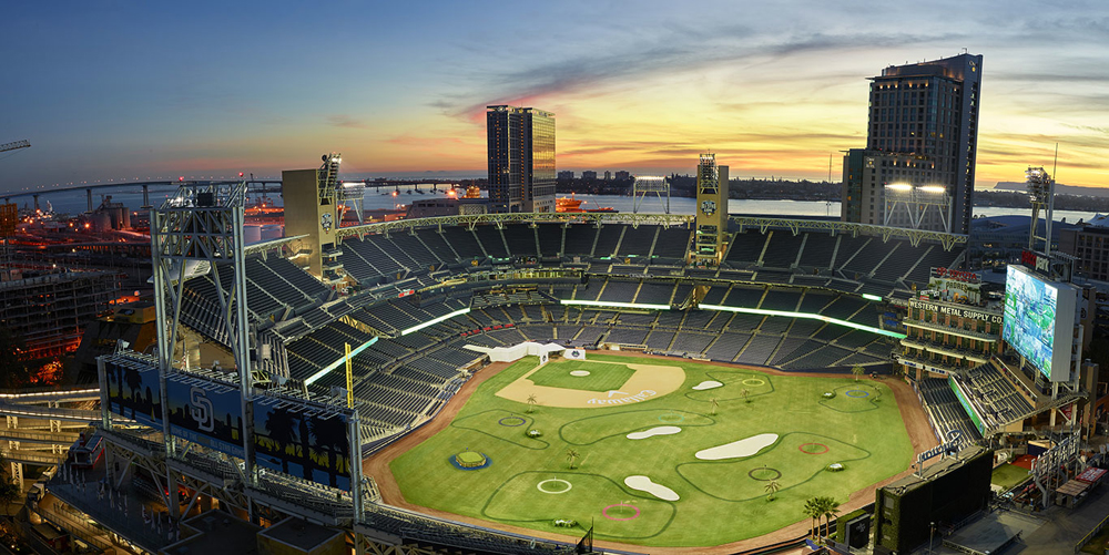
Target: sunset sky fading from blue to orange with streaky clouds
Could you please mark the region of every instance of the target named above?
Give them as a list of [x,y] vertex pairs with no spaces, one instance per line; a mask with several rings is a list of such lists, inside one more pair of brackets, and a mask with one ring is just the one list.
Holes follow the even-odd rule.
[[237,172],[484,176],[485,106],[556,114],[559,169],[824,179],[867,80],[983,54],[977,186],[1109,186],[1109,2],[11,2],[0,191]]

